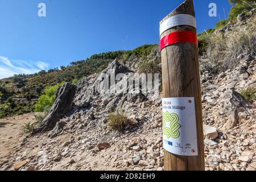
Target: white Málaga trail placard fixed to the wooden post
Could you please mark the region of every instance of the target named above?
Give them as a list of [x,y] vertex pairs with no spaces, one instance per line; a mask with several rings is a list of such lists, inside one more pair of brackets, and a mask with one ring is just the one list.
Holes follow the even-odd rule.
[[197,156],[195,98],[163,98],[163,147],[172,154]]

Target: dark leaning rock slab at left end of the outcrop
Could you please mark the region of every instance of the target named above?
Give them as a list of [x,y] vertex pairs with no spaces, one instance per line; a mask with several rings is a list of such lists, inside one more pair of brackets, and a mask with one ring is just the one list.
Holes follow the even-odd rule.
[[56,123],[69,111],[73,106],[73,100],[76,93],[76,86],[70,83],[65,83],[57,89],[55,102],[49,111],[47,117],[42,123],[32,132],[32,135],[52,130]]

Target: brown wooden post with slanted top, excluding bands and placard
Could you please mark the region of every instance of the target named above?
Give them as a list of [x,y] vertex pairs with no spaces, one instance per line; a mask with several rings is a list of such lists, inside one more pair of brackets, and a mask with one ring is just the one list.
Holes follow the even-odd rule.
[[[188,14],[195,17],[193,0],[187,0],[170,13],[171,16]],[[163,32],[164,36],[177,31],[196,32],[196,28],[188,25],[171,27]],[[162,49],[163,98],[194,97],[196,109],[196,129],[198,156],[180,156],[164,151],[165,171],[204,171],[204,137],[201,104],[201,86],[199,57],[196,44],[182,42],[171,44]]]

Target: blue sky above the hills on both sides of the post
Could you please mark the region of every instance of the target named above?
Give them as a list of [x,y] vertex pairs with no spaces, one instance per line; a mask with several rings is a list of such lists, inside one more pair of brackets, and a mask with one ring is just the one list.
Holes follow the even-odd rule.
[[[184,0],[0,0],[0,78],[69,65],[100,52],[159,43],[159,21]],[[38,4],[46,4],[46,17]],[[228,0],[194,0],[197,31],[225,19]]]

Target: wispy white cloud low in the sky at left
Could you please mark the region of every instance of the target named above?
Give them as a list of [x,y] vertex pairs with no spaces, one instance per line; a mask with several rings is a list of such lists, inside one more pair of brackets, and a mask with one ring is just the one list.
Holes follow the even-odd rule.
[[49,64],[43,61],[10,60],[0,56],[0,79],[23,73],[34,74],[48,67]]

